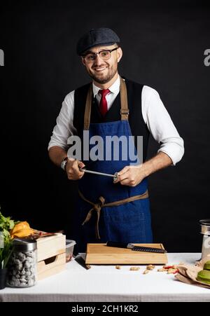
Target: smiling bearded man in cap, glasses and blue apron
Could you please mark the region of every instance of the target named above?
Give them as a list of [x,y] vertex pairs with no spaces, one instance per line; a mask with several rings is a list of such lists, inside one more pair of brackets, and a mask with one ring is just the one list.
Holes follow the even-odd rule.
[[[78,251],[85,252],[87,242],[150,243],[153,235],[147,177],[181,160],[183,139],[157,91],[119,76],[118,62],[123,51],[113,30],[91,29],[78,41],[77,53],[92,83],[66,95],[48,150],[52,162],[65,170],[68,179],[78,180]],[[136,138],[141,136],[142,155],[138,153],[134,163],[130,156],[123,156],[122,145],[120,155],[115,159],[117,149],[113,144],[108,150],[113,151],[109,152],[109,159],[95,160],[91,154],[84,159],[84,153],[80,160],[68,157],[67,140],[78,135],[86,144],[84,131],[89,132],[89,142],[91,137],[100,137],[104,141],[103,152],[108,150],[108,137],[124,137],[127,141],[134,136],[137,153]],[[160,143],[160,149],[153,158],[146,160],[150,134]],[[128,151],[126,149],[126,153]],[[113,181],[111,177],[88,174],[83,167],[106,174],[118,172],[118,177]]]

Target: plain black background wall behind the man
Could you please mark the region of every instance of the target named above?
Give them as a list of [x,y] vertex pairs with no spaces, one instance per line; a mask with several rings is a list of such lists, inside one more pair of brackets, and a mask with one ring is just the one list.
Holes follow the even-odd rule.
[[[146,3],[145,3],[146,2]],[[1,212],[72,238],[76,183],[48,158],[66,94],[90,81],[76,55],[94,27],[120,36],[119,72],[158,90],[186,153],[150,177],[154,241],[200,252],[209,218],[210,8],[202,1],[6,1],[1,4]],[[151,139],[148,157],[158,149]]]

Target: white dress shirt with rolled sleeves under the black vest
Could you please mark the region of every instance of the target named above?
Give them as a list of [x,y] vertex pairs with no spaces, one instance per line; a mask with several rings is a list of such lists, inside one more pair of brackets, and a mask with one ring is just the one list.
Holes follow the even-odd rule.
[[[100,102],[101,95],[98,88],[92,83],[93,95],[96,97],[97,102]],[[114,100],[120,92],[120,77],[109,87],[109,94],[106,95],[108,109],[111,108]],[[67,139],[71,135],[76,135],[76,128],[73,126],[73,109],[74,109],[74,90],[66,95],[62,103],[62,109],[57,116],[55,128],[52,132],[48,150],[52,146],[59,146],[67,150]],[[148,130],[153,135],[153,138],[160,144],[159,151],[167,153],[172,159],[173,165],[176,165],[184,153],[183,139],[169,116],[167,109],[160,99],[158,92],[144,85],[141,92],[141,111]],[[141,136],[141,135],[139,135]]]

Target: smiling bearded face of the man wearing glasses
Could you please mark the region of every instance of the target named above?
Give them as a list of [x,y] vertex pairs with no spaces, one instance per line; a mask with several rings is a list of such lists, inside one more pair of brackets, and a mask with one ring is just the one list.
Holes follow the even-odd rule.
[[[118,47],[116,44],[111,46],[96,46],[91,48],[88,53],[99,53],[102,50],[112,50],[116,47]],[[109,83],[113,78],[118,76],[118,62],[120,61],[122,55],[122,49],[118,48],[111,52],[109,60],[103,60],[99,57],[99,54],[97,54],[95,60],[92,61],[87,61],[85,60],[85,57],[82,57],[82,62],[87,70],[87,73],[95,83],[105,84]]]

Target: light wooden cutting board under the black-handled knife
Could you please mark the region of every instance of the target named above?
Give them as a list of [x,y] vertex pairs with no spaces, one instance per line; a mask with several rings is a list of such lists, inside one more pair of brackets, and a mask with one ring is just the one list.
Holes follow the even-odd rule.
[[[165,249],[162,244],[134,244]],[[108,247],[106,244],[87,244],[87,264],[165,264],[167,254],[135,252],[132,249]]]

